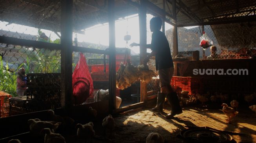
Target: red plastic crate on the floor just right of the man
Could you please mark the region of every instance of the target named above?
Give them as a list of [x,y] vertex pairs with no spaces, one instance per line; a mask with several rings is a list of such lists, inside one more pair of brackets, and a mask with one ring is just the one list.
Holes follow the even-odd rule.
[[194,95],[196,93],[202,94],[203,78],[173,76],[171,86],[177,93],[181,93],[181,91],[189,91],[189,95]]

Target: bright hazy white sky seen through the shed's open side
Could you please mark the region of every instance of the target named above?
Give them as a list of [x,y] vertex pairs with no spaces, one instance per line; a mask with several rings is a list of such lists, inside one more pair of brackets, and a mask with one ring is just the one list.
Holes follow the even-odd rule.
[[[151,34],[149,30],[149,20],[153,18],[151,14],[147,14],[147,43],[151,42]],[[17,25],[17,24],[9,24],[8,22],[0,21],[0,27],[2,30],[24,33],[24,34],[31,34],[37,35],[38,29],[34,27],[28,27],[24,25]],[[139,43],[140,41],[140,34],[139,34],[139,18],[138,14],[125,17],[124,19],[117,20],[115,23],[116,27],[116,47],[120,48],[130,48],[135,53],[140,53],[139,47],[129,47],[129,45],[133,42]],[[165,22],[165,30],[171,29],[172,25]],[[193,27],[185,27],[187,29]],[[51,40],[55,40],[59,38],[54,32],[49,30],[41,29],[42,32],[45,32],[46,36],[51,35]],[[109,45],[109,25],[108,23],[98,24],[88,29],[85,29],[85,34],[77,34],[78,42],[90,42],[96,43],[101,45]],[[131,35],[131,40],[126,41],[123,40],[123,37],[128,32]],[[59,33],[60,34],[60,33]],[[75,33],[73,33],[73,40],[75,38]],[[151,52],[150,49],[147,52]]]

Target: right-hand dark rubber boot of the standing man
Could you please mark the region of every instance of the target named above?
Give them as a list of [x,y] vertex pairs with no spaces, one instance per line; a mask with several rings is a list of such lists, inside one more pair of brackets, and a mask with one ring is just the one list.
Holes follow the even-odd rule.
[[177,114],[181,114],[182,108],[180,107],[180,101],[179,101],[177,93],[171,92],[166,95],[166,98],[169,100],[169,102],[171,104],[172,111],[170,114],[165,116],[165,118],[170,119],[170,118],[173,118],[173,116],[175,116]]

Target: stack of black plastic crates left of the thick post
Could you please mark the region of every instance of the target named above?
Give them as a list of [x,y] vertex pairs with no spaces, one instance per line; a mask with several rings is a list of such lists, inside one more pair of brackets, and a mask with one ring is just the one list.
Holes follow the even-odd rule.
[[35,110],[60,107],[60,73],[27,74],[28,107]]

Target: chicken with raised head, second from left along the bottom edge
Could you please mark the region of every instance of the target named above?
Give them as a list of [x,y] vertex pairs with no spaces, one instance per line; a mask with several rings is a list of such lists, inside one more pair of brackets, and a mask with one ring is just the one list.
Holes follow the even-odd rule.
[[66,143],[65,138],[61,134],[52,133],[49,128],[42,130],[44,136],[44,143]]

